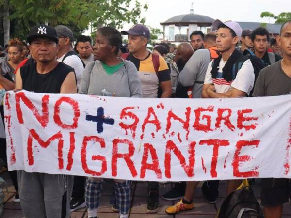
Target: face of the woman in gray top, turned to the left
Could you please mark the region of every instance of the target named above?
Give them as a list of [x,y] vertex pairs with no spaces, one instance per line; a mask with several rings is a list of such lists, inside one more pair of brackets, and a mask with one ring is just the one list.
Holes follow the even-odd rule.
[[113,47],[109,44],[108,40],[100,33],[96,34],[94,45],[94,58],[103,61],[112,54]]

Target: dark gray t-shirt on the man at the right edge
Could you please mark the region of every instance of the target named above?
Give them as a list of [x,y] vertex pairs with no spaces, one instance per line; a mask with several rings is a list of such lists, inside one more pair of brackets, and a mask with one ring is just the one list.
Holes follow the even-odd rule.
[[262,69],[255,84],[253,96],[276,96],[291,93],[291,78],[281,67],[281,61]]

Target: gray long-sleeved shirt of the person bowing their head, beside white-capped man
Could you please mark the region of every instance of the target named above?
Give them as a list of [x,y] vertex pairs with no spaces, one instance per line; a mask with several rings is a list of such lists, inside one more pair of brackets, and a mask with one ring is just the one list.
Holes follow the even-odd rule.
[[208,49],[199,49],[194,52],[180,72],[179,80],[182,86],[193,86],[192,98],[201,98],[202,86],[208,64],[211,61]]

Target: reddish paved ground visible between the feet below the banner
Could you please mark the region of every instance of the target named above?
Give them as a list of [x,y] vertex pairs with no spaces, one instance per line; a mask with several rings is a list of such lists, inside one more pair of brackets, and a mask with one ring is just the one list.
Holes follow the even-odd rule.
[[[23,214],[21,211],[20,203],[12,202],[12,198],[15,194],[14,187],[12,185],[11,180],[9,179],[9,175],[4,173],[2,175],[5,181],[8,183],[8,191],[5,192],[5,199],[4,199],[4,214],[2,218],[23,218]],[[118,218],[118,214],[114,213],[110,209],[109,199],[112,190],[113,184],[108,181],[105,183],[102,193],[102,198],[99,207],[99,218]],[[173,184],[167,183],[164,185],[160,185],[160,194],[165,193],[172,187]],[[253,185],[255,190],[256,197],[259,200],[259,184]],[[220,195],[218,198],[218,202],[216,204],[209,204],[205,201],[202,195],[201,188],[197,188],[194,197],[195,207],[191,211],[182,212],[178,215],[169,216],[165,213],[165,208],[168,205],[172,205],[177,201],[164,201],[160,198],[160,205],[161,208],[158,213],[156,214],[147,214],[146,213],[146,190],[147,184],[146,183],[136,183],[133,184],[133,198],[132,198],[132,206],[130,210],[130,218],[215,218],[217,208],[220,207],[226,192],[226,183],[222,182],[220,184]],[[283,218],[291,218],[291,205],[285,204],[284,211],[283,211]],[[87,218],[86,209],[80,209],[76,212],[73,212],[71,215],[72,218]]]

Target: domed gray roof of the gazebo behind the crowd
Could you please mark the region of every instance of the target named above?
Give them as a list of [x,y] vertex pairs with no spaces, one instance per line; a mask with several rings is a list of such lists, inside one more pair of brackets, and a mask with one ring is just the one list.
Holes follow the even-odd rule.
[[211,26],[214,19],[209,16],[197,15],[197,14],[187,14],[173,16],[172,18],[161,23],[161,25],[171,25],[175,24],[178,26],[197,24],[198,26]]

